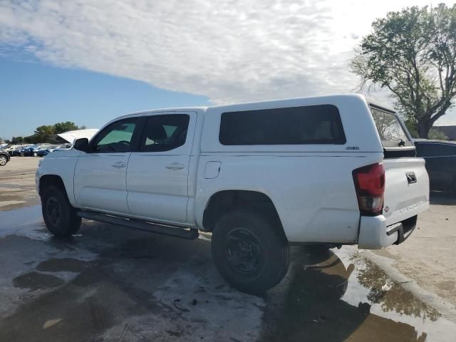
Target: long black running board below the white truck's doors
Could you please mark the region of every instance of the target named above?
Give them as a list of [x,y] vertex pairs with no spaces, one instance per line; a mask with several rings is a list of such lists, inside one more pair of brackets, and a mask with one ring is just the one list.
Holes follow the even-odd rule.
[[118,226],[143,230],[145,232],[167,235],[169,237],[180,237],[181,239],[193,240],[198,237],[198,229],[182,228],[175,226],[168,226],[166,224],[157,224],[152,222],[145,222],[139,219],[127,219],[124,217],[112,216],[108,214],[100,214],[98,212],[90,212],[88,210],[78,211],[78,217],[83,219],[93,219],[93,221],[116,224]]

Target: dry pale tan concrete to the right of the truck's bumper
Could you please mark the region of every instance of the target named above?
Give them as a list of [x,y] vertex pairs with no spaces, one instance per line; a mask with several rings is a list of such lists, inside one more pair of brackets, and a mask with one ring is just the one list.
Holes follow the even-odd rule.
[[431,192],[430,208],[419,215],[410,239],[375,253],[393,260],[388,269],[397,269],[422,289],[456,307],[455,250],[456,197]]

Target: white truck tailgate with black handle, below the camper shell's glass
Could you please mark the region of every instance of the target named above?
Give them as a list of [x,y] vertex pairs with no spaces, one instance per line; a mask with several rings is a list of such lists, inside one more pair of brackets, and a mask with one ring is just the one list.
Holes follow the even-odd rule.
[[387,226],[413,217],[429,207],[429,177],[423,158],[385,159],[383,165],[383,216]]

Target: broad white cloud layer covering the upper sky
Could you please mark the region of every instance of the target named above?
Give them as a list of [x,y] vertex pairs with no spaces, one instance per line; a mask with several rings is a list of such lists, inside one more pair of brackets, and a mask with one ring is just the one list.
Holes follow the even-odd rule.
[[[440,2],[440,1],[439,1]],[[207,95],[214,103],[344,93],[353,48],[387,11],[428,1],[1,1],[0,46]]]

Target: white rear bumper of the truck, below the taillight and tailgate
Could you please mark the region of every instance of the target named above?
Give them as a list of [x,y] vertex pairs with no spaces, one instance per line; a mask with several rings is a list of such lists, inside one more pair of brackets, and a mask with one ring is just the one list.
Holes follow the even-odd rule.
[[400,244],[407,239],[416,227],[417,217],[413,216],[390,226],[386,226],[383,215],[361,217],[359,228],[359,249],[382,249],[392,244]]

